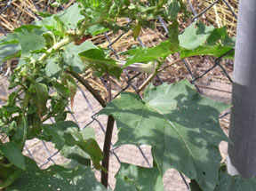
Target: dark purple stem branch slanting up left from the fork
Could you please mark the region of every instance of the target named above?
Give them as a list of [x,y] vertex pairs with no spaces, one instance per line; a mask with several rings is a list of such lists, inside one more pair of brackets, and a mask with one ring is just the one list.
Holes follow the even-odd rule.
[[76,74],[75,72],[72,72],[72,71],[68,71],[68,73],[72,76],[74,76],[76,78],[76,80],[78,80],[78,82],[80,82],[81,84],[84,85],[84,87],[92,93],[92,96],[97,99],[100,103],[100,105],[102,107],[106,107],[106,102],[104,99],[101,98],[100,94],[98,92],[96,92],[94,90],[94,88],[92,88],[92,86],[90,84],[88,84],[83,77],[79,76],[78,74]]

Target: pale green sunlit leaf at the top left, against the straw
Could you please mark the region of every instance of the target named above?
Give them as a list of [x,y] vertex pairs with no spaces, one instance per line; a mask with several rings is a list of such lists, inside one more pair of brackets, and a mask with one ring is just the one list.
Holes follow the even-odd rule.
[[84,20],[84,16],[80,12],[81,8],[78,6],[78,4],[73,4],[64,12],[57,13],[56,16],[67,28],[75,29],[77,24],[81,20]]

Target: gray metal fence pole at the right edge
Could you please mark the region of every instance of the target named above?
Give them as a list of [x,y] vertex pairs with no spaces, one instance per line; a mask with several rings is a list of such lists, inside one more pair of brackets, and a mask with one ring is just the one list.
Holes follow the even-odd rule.
[[228,145],[228,173],[256,175],[256,1],[240,0]]

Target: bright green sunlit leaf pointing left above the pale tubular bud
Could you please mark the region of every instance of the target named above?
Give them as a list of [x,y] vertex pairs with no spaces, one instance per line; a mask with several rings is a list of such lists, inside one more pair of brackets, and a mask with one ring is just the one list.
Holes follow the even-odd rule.
[[173,53],[173,51],[170,49],[171,47],[171,42],[164,41],[153,48],[140,48],[131,50],[131,52],[128,51],[127,54],[132,55],[132,58],[129,58],[127,60],[126,64],[124,65],[124,68],[136,62],[149,62],[159,58],[165,59],[169,54]]

